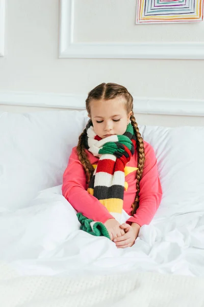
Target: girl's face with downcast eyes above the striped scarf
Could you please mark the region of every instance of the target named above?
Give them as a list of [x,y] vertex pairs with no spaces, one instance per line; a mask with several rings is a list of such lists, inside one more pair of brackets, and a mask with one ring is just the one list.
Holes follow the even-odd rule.
[[91,100],[91,114],[95,133],[102,139],[110,135],[123,135],[132,112],[127,114],[124,98]]

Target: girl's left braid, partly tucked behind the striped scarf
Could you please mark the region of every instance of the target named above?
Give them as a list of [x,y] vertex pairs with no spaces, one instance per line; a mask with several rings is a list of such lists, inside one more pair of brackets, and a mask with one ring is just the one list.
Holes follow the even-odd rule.
[[85,169],[85,172],[86,172],[87,183],[89,183],[90,179],[93,175],[94,168],[93,168],[93,165],[88,160],[87,154],[86,154],[86,151],[85,151],[84,142],[85,142],[86,136],[87,136],[87,132],[86,132],[86,128],[85,128],[83,133],[79,136],[79,142],[78,142],[78,145],[77,145],[77,153],[78,153],[78,157],[79,157],[80,162],[84,166],[84,169]]

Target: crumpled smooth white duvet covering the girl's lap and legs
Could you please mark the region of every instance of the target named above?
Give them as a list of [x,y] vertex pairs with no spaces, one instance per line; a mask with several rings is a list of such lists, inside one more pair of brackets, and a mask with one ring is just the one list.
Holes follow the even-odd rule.
[[[171,210],[172,208],[172,210]],[[75,210],[61,186],[39,193],[30,206],[0,215],[0,260],[20,275],[160,272],[204,277],[203,200],[156,214],[131,248],[79,230]],[[6,231],[5,231],[6,230]]]

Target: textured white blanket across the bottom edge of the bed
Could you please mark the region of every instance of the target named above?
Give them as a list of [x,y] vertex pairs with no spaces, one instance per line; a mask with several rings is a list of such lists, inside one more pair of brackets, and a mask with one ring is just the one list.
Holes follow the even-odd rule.
[[4,307],[203,307],[203,279],[135,273],[86,277],[20,277],[0,266]]

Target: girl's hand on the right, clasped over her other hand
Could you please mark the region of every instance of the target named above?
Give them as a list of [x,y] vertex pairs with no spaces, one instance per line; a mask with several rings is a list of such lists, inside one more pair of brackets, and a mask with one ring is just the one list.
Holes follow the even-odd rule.
[[138,237],[140,225],[137,223],[122,224],[120,228],[124,229],[125,234],[114,239],[114,242],[118,248],[131,247],[134,245],[136,238]]

